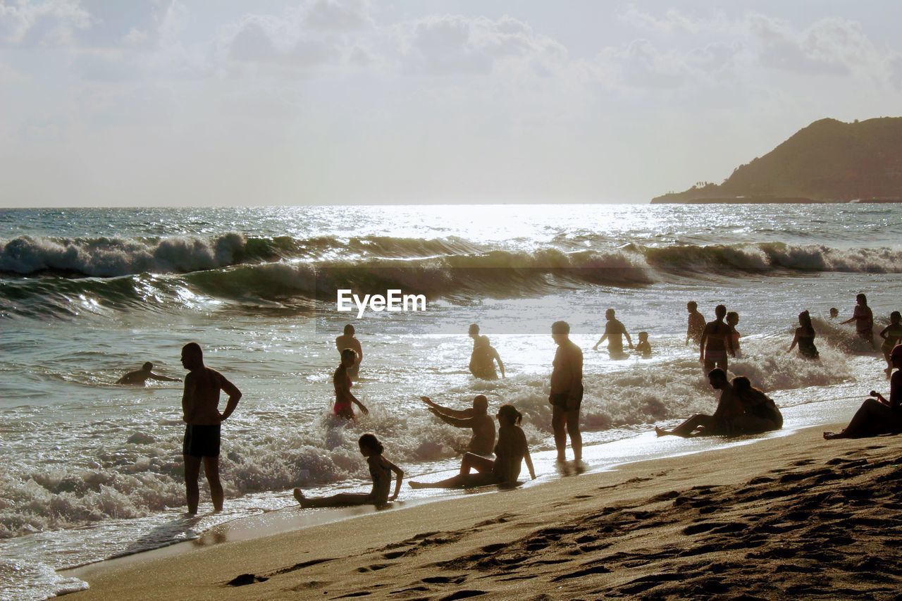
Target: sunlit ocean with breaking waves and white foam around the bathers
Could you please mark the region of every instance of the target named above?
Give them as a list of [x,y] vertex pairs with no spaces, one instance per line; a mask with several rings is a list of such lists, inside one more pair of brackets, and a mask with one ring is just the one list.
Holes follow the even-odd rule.
[[[466,432],[421,395],[512,402],[533,451],[550,451],[557,319],[584,350],[596,467],[618,441],[643,441],[632,459],[683,452],[642,437],[713,411],[685,345],[687,301],[707,319],[720,303],[739,312],[732,374],[777,400],[787,427],[848,419],[887,388],[886,364],[839,322],[859,292],[878,331],[902,310],[900,236],[902,206],[868,204],[0,209],[0,597],[86,587],[56,570],[291,507],[294,486],[367,490],[365,431],[408,477],[453,468]],[[427,307],[357,319],[336,310],[339,289],[422,294]],[[592,350],[608,308],[634,341],[649,333],[651,358]],[[801,310],[819,361],[787,354]],[[469,374],[474,322],[507,378]],[[364,347],[353,391],[370,409],[354,423],[329,413],[347,323]],[[226,511],[204,513],[202,480],[204,514],[185,522],[181,384],[115,381],[145,361],[183,377],[189,341],[244,397],[223,427]]]

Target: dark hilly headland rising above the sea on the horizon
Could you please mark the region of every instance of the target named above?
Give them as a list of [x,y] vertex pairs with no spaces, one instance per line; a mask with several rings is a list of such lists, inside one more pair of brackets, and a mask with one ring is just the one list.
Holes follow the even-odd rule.
[[902,117],[821,119],[720,185],[668,192],[658,203],[848,202],[902,199]]

